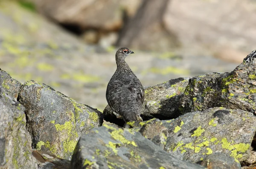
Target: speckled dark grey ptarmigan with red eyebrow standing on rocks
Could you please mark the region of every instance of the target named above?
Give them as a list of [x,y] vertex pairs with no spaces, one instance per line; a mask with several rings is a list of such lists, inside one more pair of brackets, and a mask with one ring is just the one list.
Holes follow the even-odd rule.
[[128,48],[116,51],[116,71],[108,82],[106,99],[108,105],[126,122],[143,121],[140,109],[144,101],[144,88],[125,58],[134,54]]

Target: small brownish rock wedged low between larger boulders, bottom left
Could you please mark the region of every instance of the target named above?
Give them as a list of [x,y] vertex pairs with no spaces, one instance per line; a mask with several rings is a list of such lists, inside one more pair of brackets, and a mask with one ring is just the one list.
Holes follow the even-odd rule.
[[69,169],[70,161],[58,158],[49,152],[33,150],[32,155],[38,160],[38,169]]

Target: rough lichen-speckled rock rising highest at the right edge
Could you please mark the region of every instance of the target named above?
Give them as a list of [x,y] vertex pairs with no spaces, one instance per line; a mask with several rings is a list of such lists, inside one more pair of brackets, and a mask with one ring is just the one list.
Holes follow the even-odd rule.
[[256,110],[256,50],[223,79],[221,106],[233,109]]

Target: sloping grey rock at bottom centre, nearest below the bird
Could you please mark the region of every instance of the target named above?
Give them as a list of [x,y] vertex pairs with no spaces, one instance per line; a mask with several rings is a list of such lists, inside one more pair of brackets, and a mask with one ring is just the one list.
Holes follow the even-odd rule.
[[104,125],[79,139],[71,169],[203,169],[164,152],[139,132]]

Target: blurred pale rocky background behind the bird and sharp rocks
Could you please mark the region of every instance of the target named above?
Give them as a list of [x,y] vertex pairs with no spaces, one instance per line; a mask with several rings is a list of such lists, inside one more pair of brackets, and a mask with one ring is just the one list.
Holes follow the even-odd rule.
[[117,48],[144,86],[229,72],[255,18],[254,0],[0,0],[0,68],[102,111]]

